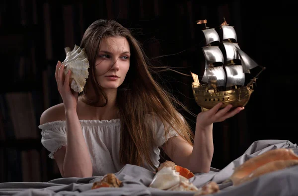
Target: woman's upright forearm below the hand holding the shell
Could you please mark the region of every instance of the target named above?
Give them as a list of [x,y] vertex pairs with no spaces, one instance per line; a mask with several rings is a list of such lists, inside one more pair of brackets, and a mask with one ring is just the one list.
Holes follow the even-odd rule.
[[92,163],[76,111],[66,111],[67,148],[64,177],[91,177]]

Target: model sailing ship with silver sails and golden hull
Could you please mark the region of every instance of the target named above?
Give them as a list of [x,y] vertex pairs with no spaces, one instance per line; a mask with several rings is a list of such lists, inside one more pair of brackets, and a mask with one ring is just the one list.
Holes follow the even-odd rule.
[[[202,111],[220,102],[224,103],[221,108],[228,104],[244,107],[253,92],[253,84],[265,67],[257,65],[240,49],[234,27],[227,24],[225,19],[217,28],[208,28],[207,20],[199,20],[197,24],[205,24],[202,30],[205,71],[201,81],[197,74],[191,72],[196,103]],[[262,68],[261,71],[245,84],[245,73],[250,73],[249,70],[257,66]]]

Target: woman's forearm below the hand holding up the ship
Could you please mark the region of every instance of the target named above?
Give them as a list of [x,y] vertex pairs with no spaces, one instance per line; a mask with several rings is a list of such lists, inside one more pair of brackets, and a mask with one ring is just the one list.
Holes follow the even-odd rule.
[[196,125],[194,146],[190,157],[192,171],[196,173],[210,171],[214,152],[212,131],[213,124],[204,129]]

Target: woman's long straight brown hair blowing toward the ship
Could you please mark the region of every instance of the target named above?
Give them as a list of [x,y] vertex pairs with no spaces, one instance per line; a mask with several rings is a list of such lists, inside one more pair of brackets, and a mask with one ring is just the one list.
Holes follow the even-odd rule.
[[[175,129],[192,145],[193,132],[175,108],[175,104],[182,107],[183,105],[152,78],[152,69],[142,45],[132,36],[129,29],[114,20],[96,20],[83,35],[80,47],[85,48],[90,65],[87,83],[92,84],[96,93],[96,100],[84,102],[100,107],[108,101],[95,77],[95,61],[101,40],[110,36],[126,38],[131,48],[130,68],[117,93],[121,120],[120,160],[123,164],[138,166],[144,166],[147,162],[155,168],[150,154],[153,145],[156,145],[157,138],[154,132],[157,130],[153,130],[156,120],[168,125],[164,126],[165,138],[170,129]],[[82,94],[85,93],[84,90]],[[98,105],[102,98],[105,99],[105,104]],[[148,115],[152,118],[148,118]]]

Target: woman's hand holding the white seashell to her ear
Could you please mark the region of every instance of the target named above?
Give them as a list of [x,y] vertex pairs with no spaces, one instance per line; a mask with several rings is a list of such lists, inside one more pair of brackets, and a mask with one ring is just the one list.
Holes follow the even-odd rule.
[[64,78],[63,70],[64,70],[64,65],[61,64],[60,61],[58,61],[56,65],[56,70],[55,70],[55,78],[58,85],[58,91],[62,97],[65,112],[76,111],[78,93],[74,92],[74,90],[71,89],[71,86],[70,86],[71,71],[69,70],[69,72],[66,74]]

